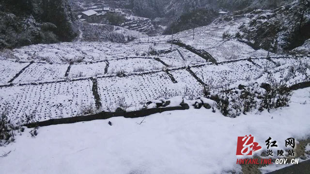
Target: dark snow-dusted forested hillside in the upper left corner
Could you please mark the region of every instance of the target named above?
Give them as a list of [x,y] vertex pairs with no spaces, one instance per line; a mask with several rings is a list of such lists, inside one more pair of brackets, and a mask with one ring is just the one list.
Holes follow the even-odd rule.
[[0,0],[0,49],[71,41],[73,22],[67,0]]

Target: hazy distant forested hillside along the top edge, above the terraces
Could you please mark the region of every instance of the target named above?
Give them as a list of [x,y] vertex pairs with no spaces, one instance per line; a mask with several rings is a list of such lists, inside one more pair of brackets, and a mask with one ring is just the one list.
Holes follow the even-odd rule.
[[128,0],[129,8],[144,17],[179,17],[197,8],[224,8],[227,10],[272,9],[293,0]]

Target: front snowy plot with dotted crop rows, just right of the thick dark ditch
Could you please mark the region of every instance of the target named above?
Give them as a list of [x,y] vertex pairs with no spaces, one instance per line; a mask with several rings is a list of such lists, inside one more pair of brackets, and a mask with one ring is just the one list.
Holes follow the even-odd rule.
[[[171,88],[173,82],[164,72],[127,77],[98,78],[98,91],[103,110],[115,110],[122,102],[132,109],[139,109],[148,100],[159,97]],[[141,102],[141,103],[140,103]]]

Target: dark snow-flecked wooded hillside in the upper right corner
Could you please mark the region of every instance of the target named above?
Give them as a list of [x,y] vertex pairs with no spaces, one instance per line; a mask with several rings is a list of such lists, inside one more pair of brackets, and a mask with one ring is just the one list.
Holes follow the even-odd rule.
[[251,21],[241,26],[237,37],[255,49],[290,51],[310,38],[309,14],[310,0],[296,0],[273,11],[256,10],[247,14]]

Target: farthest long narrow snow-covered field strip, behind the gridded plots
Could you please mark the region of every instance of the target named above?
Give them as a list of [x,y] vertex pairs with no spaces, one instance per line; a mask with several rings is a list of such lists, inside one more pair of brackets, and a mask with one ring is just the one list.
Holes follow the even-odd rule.
[[[205,61],[199,56],[178,46],[186,61]],[[172,52],[168,54],[166,52]],[[169,43],[107,43],[107,42],[75,42],[56,44],[37,44],[14,49],[13,53],[20,60],[44,60],[49,63],[63,62],[95,62],[127,57],[151,56],[156,52],[157,57],[184,60]]]

